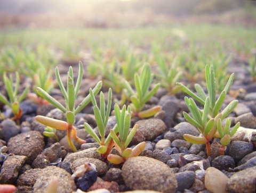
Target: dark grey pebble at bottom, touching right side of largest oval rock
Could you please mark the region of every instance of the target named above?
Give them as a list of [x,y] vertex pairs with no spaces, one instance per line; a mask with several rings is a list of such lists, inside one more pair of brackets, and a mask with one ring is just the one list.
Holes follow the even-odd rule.
[[177,191],[183,192],[184,189],[189,189],[195,181],[196,174],[195,172],[179,172],[175,173],[177,179],[178,188]]

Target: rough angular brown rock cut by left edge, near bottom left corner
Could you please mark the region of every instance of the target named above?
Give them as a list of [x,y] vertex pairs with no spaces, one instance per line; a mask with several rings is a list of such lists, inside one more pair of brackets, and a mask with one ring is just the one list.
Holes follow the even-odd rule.
[[7,156],[1,167],[0,184],[12,184],[18,177],[18,172],[26,159],[26,156]]

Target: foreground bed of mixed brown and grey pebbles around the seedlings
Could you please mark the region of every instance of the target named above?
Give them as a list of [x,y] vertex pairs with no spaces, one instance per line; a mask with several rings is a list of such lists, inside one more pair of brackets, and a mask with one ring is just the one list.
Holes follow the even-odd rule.
[[[54,178],[58,179],[58,192],[81,192],[77,188],[102,193],[131,190],[168,193],[255,192],[256,85],[250,82],[241,62],[230,64],[229,69],[236,74],[232,92],[226,97],[225,104],[234,98],[239,100],[230,118],[231,125],[240,122],[241,128],[231,138],[225,155],[219,156],[219,139],[211,142],[211,157],[206,156],[205,145],[191,144],[183,139],[183,134],[198,136],[199,131],[182,116],[183,111],[188,112],[184,96],[166,95],[164,89],[159,89],[147,104],[161,105],[162,111],[150,119],[132,119],[131,126],[137,123],[138,131],[131,145],[146,141],[146,148],[140,156],[119,165],[103,162],[96,150],[99,145],[83,128],[83,123],[87,122],[97,131],[90,104],[76,116],[77,135],[87,143],[75,143],[79,150],[71,153],[66,131],[57,130],[60,139],[57,142],[44,137],[44,125],[35,121],[35,115],[59,120],[65,120],[65,115],[52,105],[38,107],[26,99],[21,103],[23,116],[20,126],[10,119],[1,122],[0,139],[6,144],[0,142],[0,184],[14,184],[16,192],[20,193],[47,192]],[[67,70],[63,68],[63,72],[66,75]],[[96,82],[83,80],[77,103]],[[58,89],[54,89],[52,95],[63,101]],[[10,110],[6,109],[4,113],[8,116]],[[108,132],[114,125],[115,118],[110,116]],[[86,172],[81,178],[71,177],[76,167],[88,162],[96,166],[96,171]]]

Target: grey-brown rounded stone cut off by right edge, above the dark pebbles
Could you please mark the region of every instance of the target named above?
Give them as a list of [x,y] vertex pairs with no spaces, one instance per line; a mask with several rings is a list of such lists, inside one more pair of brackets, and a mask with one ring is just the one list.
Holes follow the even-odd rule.
[[240,122],[241,127],[245,128],[256,128],[256,118],[252,113],[245,113],[235,118],[235,124]]

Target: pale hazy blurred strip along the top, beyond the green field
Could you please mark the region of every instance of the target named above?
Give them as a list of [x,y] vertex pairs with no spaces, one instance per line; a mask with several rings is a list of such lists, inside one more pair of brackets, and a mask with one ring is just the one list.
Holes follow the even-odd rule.
[[256,25],[246,0],[1,0],[0,27],[123,28],[182,22]]

